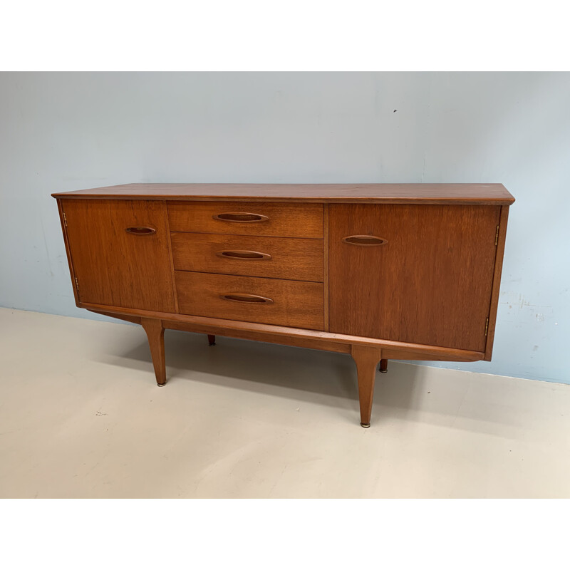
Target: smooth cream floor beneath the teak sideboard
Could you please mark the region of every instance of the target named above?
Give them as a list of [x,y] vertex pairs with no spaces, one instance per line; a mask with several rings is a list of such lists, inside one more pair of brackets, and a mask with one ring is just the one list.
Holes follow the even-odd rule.
[[0,497],[570,497],[570,385],[0,309]]

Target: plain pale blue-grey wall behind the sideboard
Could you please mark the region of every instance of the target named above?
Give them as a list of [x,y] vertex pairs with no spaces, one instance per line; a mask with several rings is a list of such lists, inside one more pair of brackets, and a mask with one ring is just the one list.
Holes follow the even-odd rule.
[[0,304],[76,309],[54,191],[502,182],[492,363],[570,383],[569,73],[0,73]]

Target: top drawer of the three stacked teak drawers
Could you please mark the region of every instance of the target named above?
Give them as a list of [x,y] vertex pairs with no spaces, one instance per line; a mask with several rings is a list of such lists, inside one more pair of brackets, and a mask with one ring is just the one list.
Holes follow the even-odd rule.
[[323,238],[323,204],[169,202],[171,232]]

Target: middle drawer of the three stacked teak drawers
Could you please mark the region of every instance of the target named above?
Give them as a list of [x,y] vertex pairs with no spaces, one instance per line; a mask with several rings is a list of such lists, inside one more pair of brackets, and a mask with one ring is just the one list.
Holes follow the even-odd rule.
[[175,269],[297,281],[323,281],[323,240],[223,234],[171,234]]

